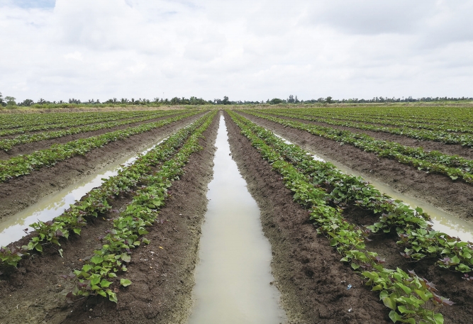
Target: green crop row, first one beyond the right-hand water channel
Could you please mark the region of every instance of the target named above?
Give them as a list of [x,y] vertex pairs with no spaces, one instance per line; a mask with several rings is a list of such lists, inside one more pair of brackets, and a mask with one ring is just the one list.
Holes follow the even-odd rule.
[[313,135],[335,140],[339,143],[350,144],[366,152],[374,152],[379,157],[391,158],[402,164],[417,167],[420,170],[445,174],[452,180],[462,179],[469,184],[473,184],[473,161],[458,155],[446,155],[438,151],[425,151],[422,147],[410,147],[387,140],[376,140],[369,135],[352,133],[349,130],[337,130],[319,125],[289,121],[253,111],[245,112],[284,126],[306,130]]

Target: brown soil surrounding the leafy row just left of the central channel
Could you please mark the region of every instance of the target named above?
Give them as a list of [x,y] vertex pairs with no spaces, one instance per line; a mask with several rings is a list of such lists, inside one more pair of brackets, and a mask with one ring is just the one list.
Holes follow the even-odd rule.
[[[206,191],[213,167],[213,143],[218,119],[201,139],[204,150],[191,155],[185,174],[169,190],[157,223],[146,235],[150,245],[133,250],[118,304],[104,298],[83,298],[68,304],[71,289],[62,274],[82,267],[79,259],[99,247],[97,237],[110,227],[100,217],[62,245],[64,258],[53,249],[21,262],[17,270],[0,276],[0,323],[185,323],[191,309],[191,289]],[[130,197],[113,203],[123,208]]]

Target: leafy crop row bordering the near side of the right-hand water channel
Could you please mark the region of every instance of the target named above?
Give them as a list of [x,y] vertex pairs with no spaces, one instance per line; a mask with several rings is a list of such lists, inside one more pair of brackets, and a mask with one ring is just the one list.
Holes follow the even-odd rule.
[[473,267],[473,245],[452,238],[445,233],[432,230],[426,222],[430,218],[421,208],[415,210],[399,200],[382,194],[362,179],[340,172],[333,164],[315,161],[296,145],[287,145],[272,133],[260,131],[251,125],[252,131],[279,152],[308,177],[314,186],[327,191],[325,201],[340,208],[350,204],[380,215],[379,221],[367,226],[372,233],[396,230],[399,244],[406,246],[404,257],[412,260],[435,257],[436,264],[459,272],[471,272]]

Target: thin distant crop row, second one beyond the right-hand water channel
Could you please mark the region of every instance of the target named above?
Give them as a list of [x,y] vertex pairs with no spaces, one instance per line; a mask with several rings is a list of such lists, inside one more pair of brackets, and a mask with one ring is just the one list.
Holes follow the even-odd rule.
[[299,118],[304,119],[306,121],[317,121],[321,123],[327,123],[329,125],[336,125],[336,126],[345,126],[351,128],[357,128],[360,130],[371,130],[374,132],[382,132],[382,133],[390,133],[394,135],[403,135],[409,138],[416,138],[418,140],[433,140],[436,142],[442,142],[446,144],[460,144],[460,145],[467,145],[473,146],[473,135],[467,133],[450,133],[448,131],[440,131],[440,130],[421,130],[421,129],[413,129],[413,128],[394,128],[394,127],[384,127],[380,125],[369,125],[365,123],[355,123],[351,121],[337,121],[335,119],[330,118],[323,118],[323,117],[313,117],[313,116],[304,116],[303,114],[294,114],[294,113],[287,113],[287,112],[272,112],[272,111],[265,111],[265,113],[271,113],[279,116],[286,116],[291,118]]

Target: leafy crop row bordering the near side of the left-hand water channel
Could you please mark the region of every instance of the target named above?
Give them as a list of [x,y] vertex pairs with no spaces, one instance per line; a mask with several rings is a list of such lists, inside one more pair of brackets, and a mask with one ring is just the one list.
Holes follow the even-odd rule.
[[[70,233],[80,235],[81,228],[87,225],[87,218],[97,217],[99,213],[111,210],[111,200],[114,197],[130,192],[143,181],[145,174],[152,172],[152,167],[172,157],[191,133],[204,123],[204,118],[199,118],[191,125],[178,130],[177,133],[163,141],[161,145],[153,148],[143,156],[139,156],[133,164],[118,171],[114,177],[110,177],[99,186],[92,189],[70,208],[54,220],[48,222],[38,221],[30,226],[35,230],[35,236],[30,239],[28,245],[23,247],[1,247],[0,261],[3,266],[16,267],[23,255],[28,255],[31,250],[43,252],[43,245],[53,243],[60,246],[60,238],[69,238]],[[62,253],[62,250],[60,250]]]

